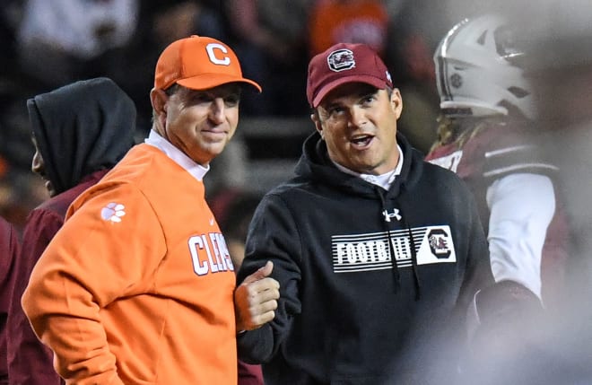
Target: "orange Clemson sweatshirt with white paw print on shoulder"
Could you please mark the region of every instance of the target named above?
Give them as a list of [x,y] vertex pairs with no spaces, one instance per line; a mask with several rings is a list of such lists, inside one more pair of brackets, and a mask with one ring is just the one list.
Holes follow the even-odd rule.
[[68,384],[236,384],[233,270],[203,183],[138,144],[70,206],[22,306]]

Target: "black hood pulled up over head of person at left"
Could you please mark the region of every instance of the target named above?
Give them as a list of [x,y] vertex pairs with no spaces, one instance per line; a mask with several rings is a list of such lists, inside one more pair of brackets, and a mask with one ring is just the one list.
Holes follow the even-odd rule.
[[[70,111],[61,112],[62,109]],[[135,105],[106,77],[83,80],[27,101],[30,126],[56,193],[110,169],[134,144]]]

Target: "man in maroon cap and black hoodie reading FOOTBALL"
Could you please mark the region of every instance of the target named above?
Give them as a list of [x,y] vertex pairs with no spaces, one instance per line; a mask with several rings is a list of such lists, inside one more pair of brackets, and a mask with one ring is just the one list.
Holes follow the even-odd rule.
[[271,260],[280,298],[240,358],[266,385],[457,383],[468,305],[493,282],[471,193],[396,133],[401,94],[367,46],[313,57],[307,97],[317,130],[257,207],[238,276]]

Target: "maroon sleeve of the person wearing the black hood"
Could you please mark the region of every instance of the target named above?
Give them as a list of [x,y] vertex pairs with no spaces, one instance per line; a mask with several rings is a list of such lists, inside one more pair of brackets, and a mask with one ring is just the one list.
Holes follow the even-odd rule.
[[22,234],[22,249],[13,269],[13,295],[8,320],[8,372],[11,383],[20,385],[61,383],[53,366],[53,353],[44,346],[22,311],[21,297],[30,273],[64,219],[51,210],[33,210]]

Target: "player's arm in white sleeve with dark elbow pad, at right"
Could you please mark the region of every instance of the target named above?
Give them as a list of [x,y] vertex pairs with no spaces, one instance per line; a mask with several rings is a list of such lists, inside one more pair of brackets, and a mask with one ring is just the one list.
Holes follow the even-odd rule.
[[469,337],[474,363],[527,346],[540,321],[541,252],[555,200],[549,178],[532,173],[497,179],[487,191],[489,243],[496,284],[474,295]]

